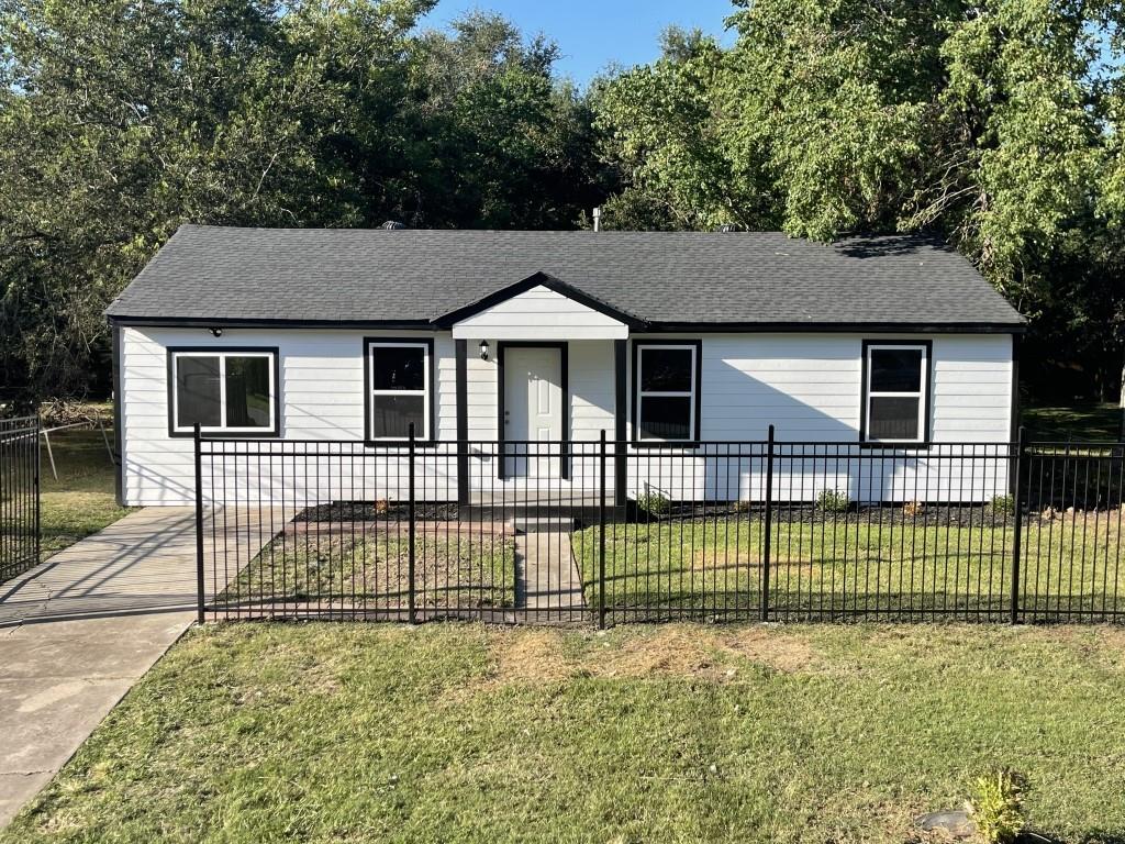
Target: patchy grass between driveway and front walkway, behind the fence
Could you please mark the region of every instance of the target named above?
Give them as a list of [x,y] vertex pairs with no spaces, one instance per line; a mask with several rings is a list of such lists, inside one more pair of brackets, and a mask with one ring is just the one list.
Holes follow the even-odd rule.
[[[410,540],[404,526],[369,522],[346,530],[291,526],[267,545],[218,596],[219,605],[315,602],[340,609],[406,609]],[[314,524],[314,528],[316,526]],[[511,533],[428,530],[415,536],[415,605],[511,607]],[[358,532],[357,532],[358,531]]]

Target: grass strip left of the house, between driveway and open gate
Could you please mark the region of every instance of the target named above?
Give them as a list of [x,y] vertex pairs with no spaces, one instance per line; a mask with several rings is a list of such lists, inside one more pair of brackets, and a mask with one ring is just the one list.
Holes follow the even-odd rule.
[[[112,442],[112,430],[106,433]],[[51,445],[58,479],[51,474],[44,446],[39,470],[43,558],[132,512],[114,499],[114,465],[100,431],[60,431],[52,434]]]

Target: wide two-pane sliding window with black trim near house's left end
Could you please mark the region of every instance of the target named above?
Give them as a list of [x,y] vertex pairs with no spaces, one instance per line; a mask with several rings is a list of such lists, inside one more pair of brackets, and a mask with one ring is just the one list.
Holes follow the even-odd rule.
[[169,350],[172,433],[276,436],[277,351]]

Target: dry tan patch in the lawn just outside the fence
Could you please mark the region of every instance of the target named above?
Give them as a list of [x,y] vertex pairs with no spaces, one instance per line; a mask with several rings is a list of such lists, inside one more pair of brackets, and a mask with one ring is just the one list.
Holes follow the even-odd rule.
[[[580,635],[577,647],[565,648],[557,631],[520,631],[493,639],[495,670],[489,686],[559,683],[573,677],[688,677],[717,683],[738,676],[739,661],[795,673],[819,658],[803,636],[741,628],[732,631],[666,625],[645,635]],[[569,653],[568,653],[569,652]]]

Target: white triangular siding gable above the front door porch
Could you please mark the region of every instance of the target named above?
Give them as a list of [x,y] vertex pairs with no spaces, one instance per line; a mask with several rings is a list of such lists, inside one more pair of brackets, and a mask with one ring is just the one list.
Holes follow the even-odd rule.
[[503,340],[624,339],[624,323],[542,285],[461,320],[453,336]]

